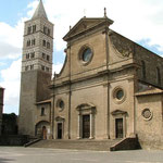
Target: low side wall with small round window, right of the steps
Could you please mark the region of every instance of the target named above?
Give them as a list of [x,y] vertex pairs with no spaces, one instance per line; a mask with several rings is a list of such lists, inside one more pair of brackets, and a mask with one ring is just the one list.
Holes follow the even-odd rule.
[[163,149],[162,99],[161,93],[136,98],[136,131],[143,149]]

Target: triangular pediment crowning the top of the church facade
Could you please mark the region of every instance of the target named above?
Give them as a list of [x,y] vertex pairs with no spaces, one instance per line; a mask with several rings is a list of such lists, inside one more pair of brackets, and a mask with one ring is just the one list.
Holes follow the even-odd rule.
[[113,21],[108,17],[101,18],[87,18],[83,17],[64,37],[63,39],[67,41],[70,38],[93,29],[100,25],[111,25]]

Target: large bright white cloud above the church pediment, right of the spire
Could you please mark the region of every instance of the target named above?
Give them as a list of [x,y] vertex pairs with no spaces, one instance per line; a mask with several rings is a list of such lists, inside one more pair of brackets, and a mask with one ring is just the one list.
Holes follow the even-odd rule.
[[48,17],[54,23],[57,50],[65,47],[62,37],[68,32],[70,25],[75,25],[84,16],[84,10],[88,17],[102,17],[104,7],[108,9],[108,16],[115,21],[112,29],[134,41],[149,39],[149,46],[160,45],[159,50],[163,51],[161,0],[45,0]]

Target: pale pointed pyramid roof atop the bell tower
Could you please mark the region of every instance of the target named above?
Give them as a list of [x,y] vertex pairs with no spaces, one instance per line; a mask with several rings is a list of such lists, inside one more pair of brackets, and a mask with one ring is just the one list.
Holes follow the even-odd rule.
[[46,14],[46,10],[45,10],[45,7],[43,7],[41,0],[39,1],[39,4],[38,4],[38,7],[37,7],[35,13],[34,13],[32,20],[34,20],[34,18],[39,18],[39,17],[45,17],[45,18],[48,20],[47,14]]

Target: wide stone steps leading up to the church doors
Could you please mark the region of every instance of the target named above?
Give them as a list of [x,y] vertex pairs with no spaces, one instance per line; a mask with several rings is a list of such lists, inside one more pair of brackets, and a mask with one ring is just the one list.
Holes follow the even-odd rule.
[[73,149],[110,151],[110,148],[120,140],[40,140],[33,143],[32,148]]

